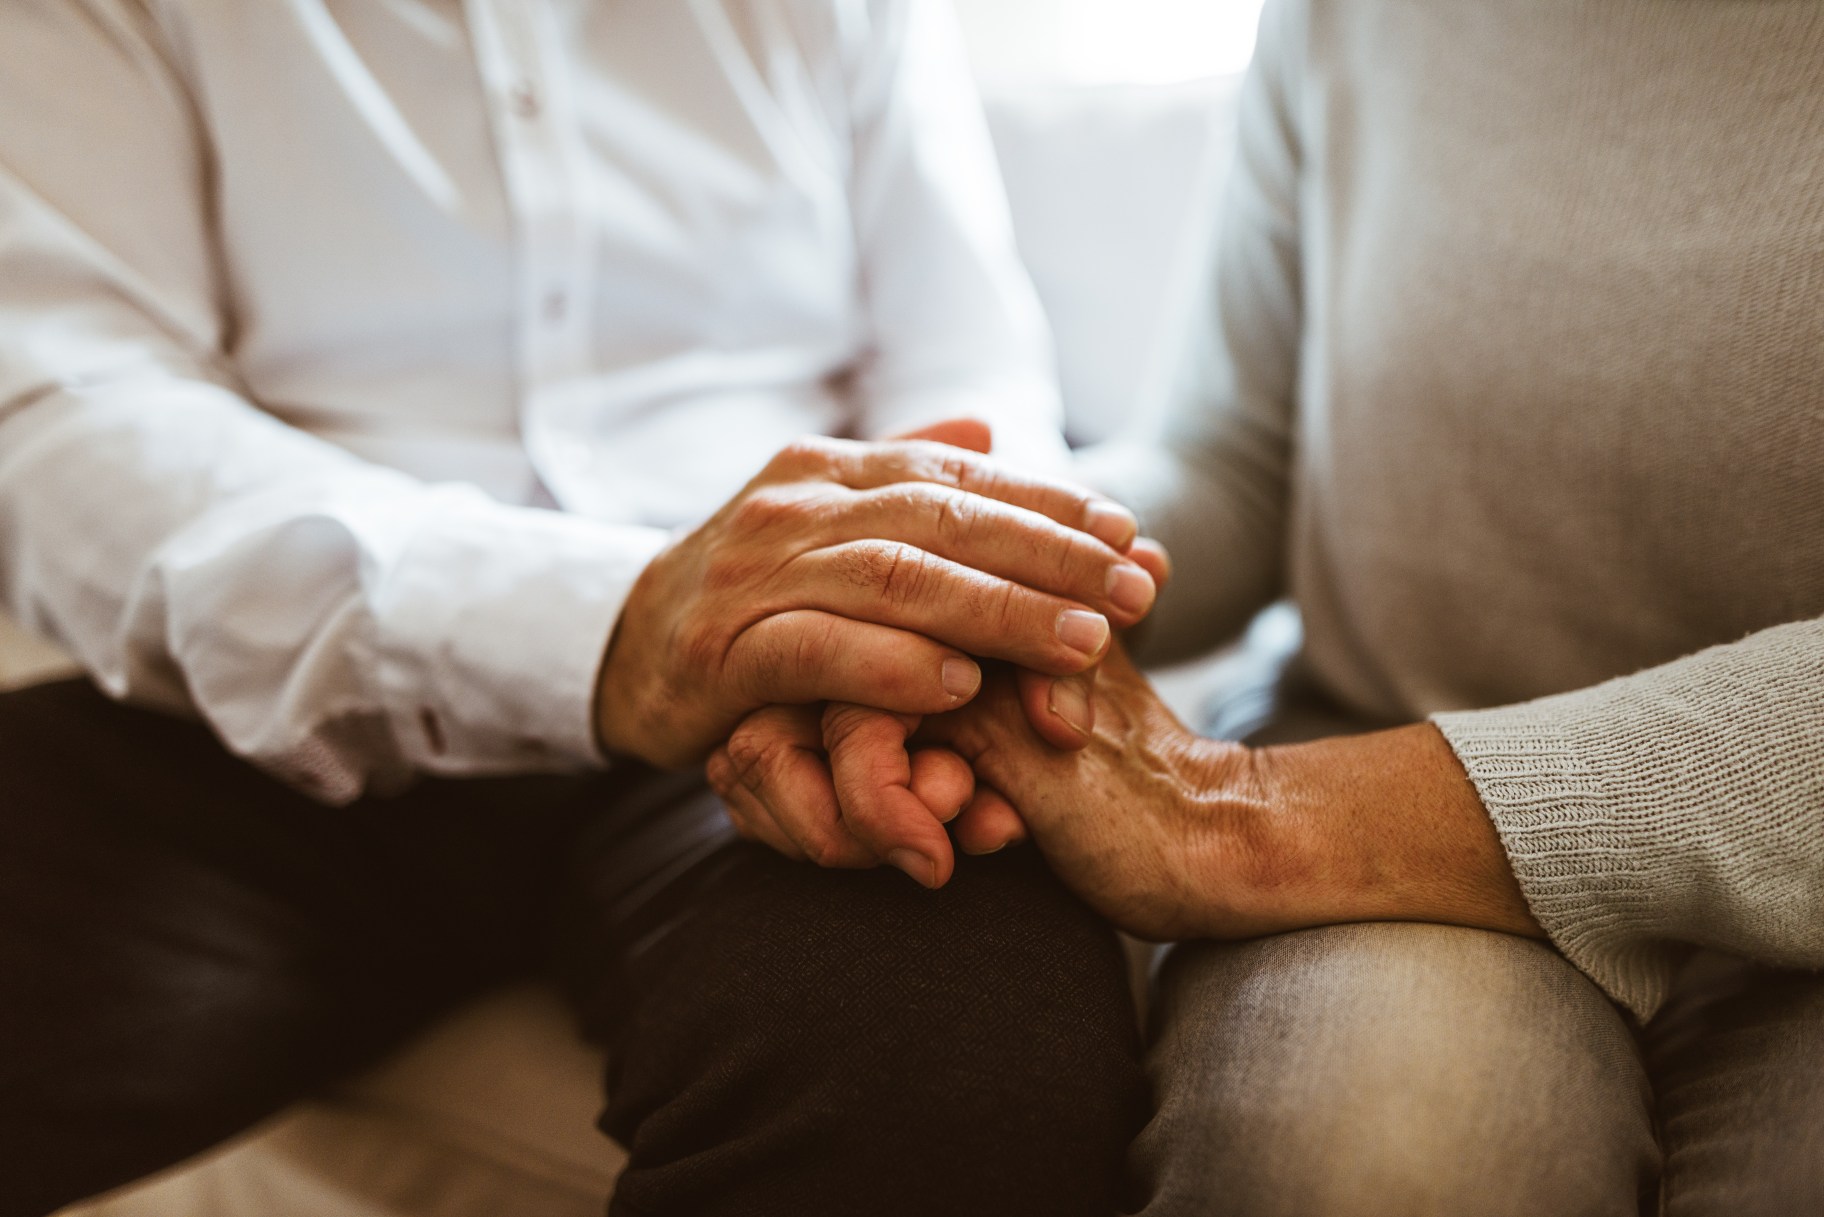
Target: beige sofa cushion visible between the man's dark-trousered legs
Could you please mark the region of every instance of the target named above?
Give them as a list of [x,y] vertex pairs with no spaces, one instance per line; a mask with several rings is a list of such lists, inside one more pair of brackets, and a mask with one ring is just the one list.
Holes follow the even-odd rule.
[[595,1131],[600,1053],[522,985],[379,1069],[64,1217],[600,1217],[626,1155]]

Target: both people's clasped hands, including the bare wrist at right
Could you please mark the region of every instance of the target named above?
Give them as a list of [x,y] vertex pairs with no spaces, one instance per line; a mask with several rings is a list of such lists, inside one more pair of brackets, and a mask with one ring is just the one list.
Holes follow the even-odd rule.
[[1114,639],[1164,551],[1116,504],[996,465],[989,438],[782,451],[629,593],[604,750],[706,765],[742,836],[824,867],[941,887],[956,848],[1031,836],[1144,938],[1538,932],[1434,728],[1264,752],[1187,732]]

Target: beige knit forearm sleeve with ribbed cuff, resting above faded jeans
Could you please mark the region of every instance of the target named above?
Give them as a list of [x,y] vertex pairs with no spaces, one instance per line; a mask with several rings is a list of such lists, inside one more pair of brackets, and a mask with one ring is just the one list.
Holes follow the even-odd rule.
[[1434,721],[1539,925],[1642,1020],[1687,947],[1824,967],[1824,619]]

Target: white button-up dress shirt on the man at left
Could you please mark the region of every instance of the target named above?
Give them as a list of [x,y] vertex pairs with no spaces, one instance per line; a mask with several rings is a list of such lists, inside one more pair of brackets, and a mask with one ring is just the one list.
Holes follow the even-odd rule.
[[0,115],[0,593],[328,801],[598,763],[799,434],[1062,451],[941,0],[7,0]]

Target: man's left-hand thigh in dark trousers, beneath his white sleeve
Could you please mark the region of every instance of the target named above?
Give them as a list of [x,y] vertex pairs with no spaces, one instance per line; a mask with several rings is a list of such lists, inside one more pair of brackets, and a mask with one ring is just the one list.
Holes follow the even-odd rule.
[[[82,682],[0,697],[0,1212],[213,1144],[536,962],[582,783],[316,805]],[[42,1188],[33,1188],[42,1184]]]

